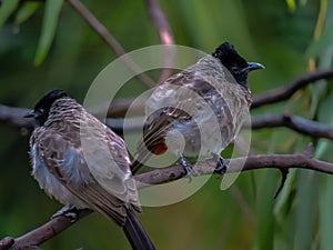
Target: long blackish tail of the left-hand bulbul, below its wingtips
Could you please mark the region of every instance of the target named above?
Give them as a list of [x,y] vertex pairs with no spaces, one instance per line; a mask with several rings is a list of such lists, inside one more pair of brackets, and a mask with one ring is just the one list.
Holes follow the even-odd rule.
[[139,221],[135,212],[130,206],[127,206],[127,222],[123,231],[132,246],[133,250],[157,250],[153,242],[147,234],[143,226]]

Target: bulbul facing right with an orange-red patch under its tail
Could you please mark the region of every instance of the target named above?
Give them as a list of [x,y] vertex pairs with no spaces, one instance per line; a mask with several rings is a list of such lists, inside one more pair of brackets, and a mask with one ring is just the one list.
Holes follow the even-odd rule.
[[145,103],[143,138],[132,172],[152,154],[170,150],[180,157],[188,173],[192,167],[185,157],[213,157],[218,160],[215,171],[223,174],[226,164],[220,154],[238,136],[252,101],[248,74],[263,68],[246,62],[224,42],[157,87]]

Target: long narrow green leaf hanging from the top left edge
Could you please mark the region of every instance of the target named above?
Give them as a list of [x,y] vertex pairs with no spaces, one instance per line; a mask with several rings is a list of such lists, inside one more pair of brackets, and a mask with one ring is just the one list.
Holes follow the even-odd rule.
[[39,38],[37,53],[34,57],[36,66],[40,66],[43,62],[50,50],[51,43],[56,34],[62,3],[63,0],[52,0],[46,2],[42,32]]

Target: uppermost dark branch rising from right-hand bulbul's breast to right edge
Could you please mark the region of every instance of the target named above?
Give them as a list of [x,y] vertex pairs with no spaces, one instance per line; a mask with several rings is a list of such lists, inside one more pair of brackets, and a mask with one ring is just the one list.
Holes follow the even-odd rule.
[[315,83],[317,80],[322,79],[332,79],[333,78],[333,68],[327,70],[319,70],[310,72],[289,83],[284,88],[274,89],[262,94],[254,97],[251,108],[259,108],[264,104],[276,103],[284,101],[293,96],[297,90],[306,87],[310,83]]

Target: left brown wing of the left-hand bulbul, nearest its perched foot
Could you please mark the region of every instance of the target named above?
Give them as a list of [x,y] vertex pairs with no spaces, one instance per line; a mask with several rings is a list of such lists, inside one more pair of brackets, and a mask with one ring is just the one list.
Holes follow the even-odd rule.
[[[50,173],[88,207],[120,226],[124,224],[127,217],[124,201],[111,194],[95,180],[88,168],[81,147],[75,147],[72,141],[54,130],[41,133],[37,141],[41,160]],[[112,182],[110,176],[107,179]]]

